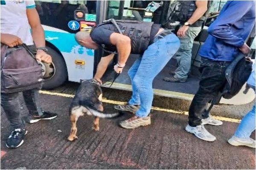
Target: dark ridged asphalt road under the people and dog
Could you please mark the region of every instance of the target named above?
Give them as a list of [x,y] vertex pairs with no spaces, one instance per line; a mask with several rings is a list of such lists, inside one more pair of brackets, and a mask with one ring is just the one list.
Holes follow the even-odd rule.
[[[1,109],[1,169],[255,169],[255,149],[227,143],[238,123],[206,125],[217,137],[206,142],[184,130],[186,115],[163,111],[152,111],[151,125],[134,130],[118,126],[132,116],[128,113],[100,119],[98,132],[91,129],[93,117],[83,116],[78,120],[78,139],[69,142],[71,100],[41,94],[44,110],[58,117],[26,125],[25,142],[17,149],[5,146],[10,127]],[[24,103],[22,108],[26,115]],[[105,103],[105,111],[114,112],[113,105]],[[255,139],[255,132],[252,136]]]

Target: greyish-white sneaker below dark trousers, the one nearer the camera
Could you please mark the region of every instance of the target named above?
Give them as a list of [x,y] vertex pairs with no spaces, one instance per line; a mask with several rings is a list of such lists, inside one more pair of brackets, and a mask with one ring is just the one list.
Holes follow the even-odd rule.
[[196,127],[187,125],[186,131],[195,134],[196,137],[205,141],[213,142],[216,140],[216,137],[204,128],[204,125],[198,125]]

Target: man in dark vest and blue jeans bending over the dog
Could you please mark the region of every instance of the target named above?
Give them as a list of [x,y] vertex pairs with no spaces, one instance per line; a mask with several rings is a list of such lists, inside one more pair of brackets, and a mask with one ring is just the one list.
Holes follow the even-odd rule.
[[[117,51],[118,62],[114,66],[116,73],[122,73],[130,53],[143,54],[128,71],[132,84],[130,101],[127,105],[114,107],[119,111],[135,113],[135,116],[119,124],[133,129],[151,124],[148,115],[153,101],[153,79],[177,52],[180,40],[172,32],[160,28],[159,24],[135,21],[125,25],[125,22],[134,21],[116,21],[124,34],[117,33],[120,30],[113,23],[103,23],[94,27],[90,34],[84,31],[76,33],[76,41],[86,48],[98,49],[99,45],[105,45],[105,50]],[[99,82],[113,56],[110,54],[101,58],[94,76]]]

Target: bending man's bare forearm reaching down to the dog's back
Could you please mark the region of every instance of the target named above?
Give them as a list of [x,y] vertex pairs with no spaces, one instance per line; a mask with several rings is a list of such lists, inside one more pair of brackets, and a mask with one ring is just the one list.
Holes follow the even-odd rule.
[[110,54],[110,55],[108,55],[106,57],[102,57],[100,59],[100,62],[97,66],[96,74],[94,76],[94,79],[96,79],[98,82],[102,83],[101,78],[102,78],[103,74],[105,73],[105,71],[107,70],[108,64],[111,62],[113,57],[114,57],[114,54]]

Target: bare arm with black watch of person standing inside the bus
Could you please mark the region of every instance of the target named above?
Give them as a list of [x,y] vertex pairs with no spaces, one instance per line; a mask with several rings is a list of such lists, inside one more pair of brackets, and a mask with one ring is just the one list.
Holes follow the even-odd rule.
[[[197,20],[199,20],[204,13],[207,11],[207,0],[197,0],[195,1],[196,9],[193,12],[192,16],[187,20],[189,24],[195,23]],[[177,31],[177,36],[178,37],[184,37],[186,31],[188,30],[189,26],[182,26],[180,29]]]

